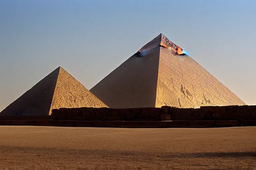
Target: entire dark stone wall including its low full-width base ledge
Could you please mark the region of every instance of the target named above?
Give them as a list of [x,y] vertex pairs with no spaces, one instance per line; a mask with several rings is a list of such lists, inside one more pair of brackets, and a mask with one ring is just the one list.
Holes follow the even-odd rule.
[[[172,120],[172,121],[168,121]],[[49,116],[0,116],[0,126],[105,128],[216,128],[256,126],[256,106],[61,108]]]

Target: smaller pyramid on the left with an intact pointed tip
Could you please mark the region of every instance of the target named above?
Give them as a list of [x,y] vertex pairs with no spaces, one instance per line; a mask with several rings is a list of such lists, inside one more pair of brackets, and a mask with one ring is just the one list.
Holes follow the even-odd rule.
[[107,106],[67,71],[58,67],[7,106],[0,115],[50,115],[52,109],[76,107]]

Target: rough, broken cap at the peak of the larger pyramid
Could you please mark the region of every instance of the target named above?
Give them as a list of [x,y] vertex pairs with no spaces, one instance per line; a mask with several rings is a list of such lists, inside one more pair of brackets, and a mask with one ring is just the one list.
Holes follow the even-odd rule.
[[141,52],[144,50],[150,50],[153,49],[157,46],[162,46],[165,48],[169,48],[172,50],[174,54],[181,55],[183,54],[182,48],[179,47],[178,45],[174,44],[171,42],[168,38],[166,38],[162,33],[159,34],[156,38],[148,42],[146,45],[144,45],[141,49],[138,50],[137,54],[139,55]]

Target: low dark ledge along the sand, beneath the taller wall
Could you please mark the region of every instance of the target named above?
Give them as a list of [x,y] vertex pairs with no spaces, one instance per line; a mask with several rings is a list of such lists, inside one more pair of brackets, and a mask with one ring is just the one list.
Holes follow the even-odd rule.
[[256,126],[256,121],[78,121],[0,120],[0,126],[58,126],[98,128],[220,128]]

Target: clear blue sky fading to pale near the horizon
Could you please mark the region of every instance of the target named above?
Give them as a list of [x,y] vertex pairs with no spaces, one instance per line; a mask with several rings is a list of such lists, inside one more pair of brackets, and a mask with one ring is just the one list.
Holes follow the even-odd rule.
[[256,105],[254,0],[0,0],[0,111],[62,66],[90,89],[163,33]]

